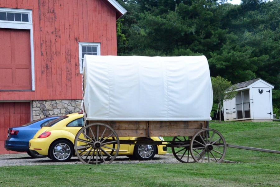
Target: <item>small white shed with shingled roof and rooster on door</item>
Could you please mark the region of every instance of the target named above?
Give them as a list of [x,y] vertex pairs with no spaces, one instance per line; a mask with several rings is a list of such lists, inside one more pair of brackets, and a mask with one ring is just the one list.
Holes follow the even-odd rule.
[[260,122],[273,119],[272,89],[274,85],[260,78],[235,85],[236,97],[223,101],[225,121]]

